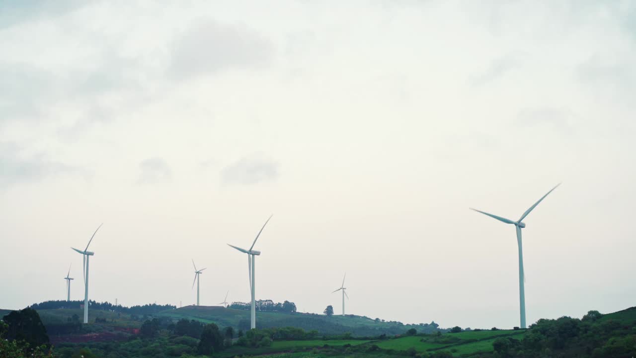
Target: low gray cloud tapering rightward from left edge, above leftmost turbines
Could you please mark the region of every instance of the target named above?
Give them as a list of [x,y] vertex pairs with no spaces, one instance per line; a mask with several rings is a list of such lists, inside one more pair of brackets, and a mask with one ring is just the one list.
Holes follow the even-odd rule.
[[0,143],[0,189],[21,183],[35,183],[55,175],[90,176],[85,169],[52,161],[45,155],[24,155],[11,143]]

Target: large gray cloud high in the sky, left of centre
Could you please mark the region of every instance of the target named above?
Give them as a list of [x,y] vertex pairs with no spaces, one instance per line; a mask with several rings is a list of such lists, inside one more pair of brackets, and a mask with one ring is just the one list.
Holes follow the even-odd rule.
[[272,52],[271,43],[258,32],[205,20],[174,41],[170,71],[181,78],[228,68],[259,68],[270,62]]

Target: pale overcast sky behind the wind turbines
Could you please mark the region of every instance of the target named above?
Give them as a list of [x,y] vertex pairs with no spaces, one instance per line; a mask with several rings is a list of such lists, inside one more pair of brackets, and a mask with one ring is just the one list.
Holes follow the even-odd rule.
[[256,298],[513,327],[636,305],[632,1],[2,1],[0,308]]

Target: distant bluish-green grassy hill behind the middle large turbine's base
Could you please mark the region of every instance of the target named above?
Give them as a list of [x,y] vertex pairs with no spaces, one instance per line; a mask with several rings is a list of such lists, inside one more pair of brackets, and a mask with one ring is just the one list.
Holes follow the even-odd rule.
[[[166,310],[160,316],[172,319],[194,319],[206,323],[215,323],[221,327],[232,326],[237,329],[249,329],[249,315],[247,310],[234,310],[219,306],[186,306],[175,310]],[[404,334],[408,329],[415,328],[422,331],[418,325],[403,325],[395,322],[375,322],[368,317],[317,315],[312,313],[276,313],[256,312],[256,322],[259,328],[270,327],[298,327],[311,331],[315,329],[322,334],[351,333],[353,336],[379,336],[380,334]]]

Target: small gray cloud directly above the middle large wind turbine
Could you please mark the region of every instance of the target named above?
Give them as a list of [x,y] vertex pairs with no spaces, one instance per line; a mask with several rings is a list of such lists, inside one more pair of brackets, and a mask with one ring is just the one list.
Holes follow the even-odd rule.
[[251,155],[234,162],[221,171],[221,182],[225,184],[250,185],[271,182],[279,176],[279,165],[260,155]]

